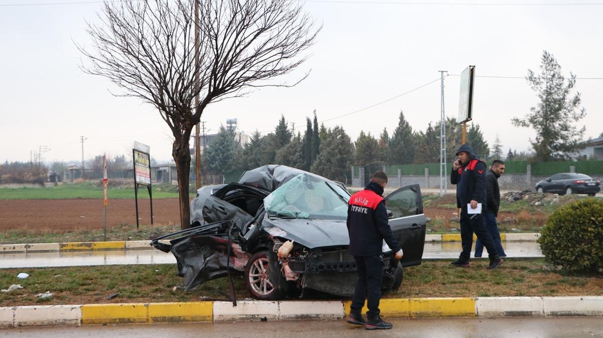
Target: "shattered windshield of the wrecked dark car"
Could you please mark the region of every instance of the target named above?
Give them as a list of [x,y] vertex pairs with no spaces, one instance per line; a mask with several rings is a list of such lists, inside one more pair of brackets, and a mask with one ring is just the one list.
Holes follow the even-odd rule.
[[270,218],[345,220],[350,195],[320,177],[299,174],[264,198]]

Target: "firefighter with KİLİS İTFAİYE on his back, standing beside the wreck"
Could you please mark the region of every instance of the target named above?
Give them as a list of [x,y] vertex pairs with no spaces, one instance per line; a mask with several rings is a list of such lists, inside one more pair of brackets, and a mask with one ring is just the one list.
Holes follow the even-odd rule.
[[[383,171],[374,173],[364,190],[350,197],[347,209],[347,230],[350,236],[349,252],[356,260],[358,281],[352,298],[350,316],[347,322],[364,325],[367,330],[391,328],[379,315],[379,300],[383,278],[382,245],[387,245],[402,258],[402,248],[391,232],[383,191],[387,175]],[[368,312],[365,321],[361,310],[367,300]]]

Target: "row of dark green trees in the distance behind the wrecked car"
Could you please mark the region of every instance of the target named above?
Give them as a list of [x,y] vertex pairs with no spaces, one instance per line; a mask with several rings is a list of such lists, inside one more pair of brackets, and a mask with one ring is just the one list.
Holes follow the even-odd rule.
[[[488,158],[490,148],[478,124],[469,124],[467,143],[482,158]],[[447,161],[455,158],[461,145],[461,126],[456,120],[446,120]],[[502,144],[497,140],[497,156],[502,156]],[[349,181],[352,165],[425,164],[440,161],[440,122],[429,123],[425,131],[412,129],[403,112],[390,134],[384,128],[379,137],[361,131],[352,141],[341,126],[319,126],[316,111],[314,118],[306,118],[305,131],[289,128],[281,116],[274,132],[267,135],[253,132],[247,144],[235,141],[232,131],[222,127],[207,148],[207,170],[213,174],[250,170],[266,164],[282,164],[311,171],[330,179]]]

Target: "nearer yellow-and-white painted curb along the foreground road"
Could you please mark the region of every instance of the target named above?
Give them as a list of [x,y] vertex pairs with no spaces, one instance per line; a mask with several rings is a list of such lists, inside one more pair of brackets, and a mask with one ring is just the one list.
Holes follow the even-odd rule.
[[[382,299],[388,318],[603,316],[603,296]],[[364,307],[363,312],[365,312]],[[343,319],[350,301],[224,301],[0,307],[0,327]]]

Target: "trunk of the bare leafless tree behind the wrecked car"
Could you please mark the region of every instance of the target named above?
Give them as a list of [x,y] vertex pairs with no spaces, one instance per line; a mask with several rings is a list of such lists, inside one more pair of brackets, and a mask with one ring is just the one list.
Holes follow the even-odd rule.
[[189,178],[191,174],[191,150],[189,149],[190,132],[185,132],[174,140],[172,157],[178,172],[178,195],[180,195],[180,227],[182,230],[191,227],[191,206],[189,204]]

